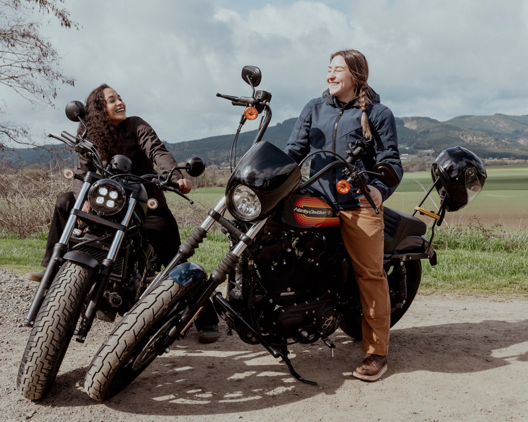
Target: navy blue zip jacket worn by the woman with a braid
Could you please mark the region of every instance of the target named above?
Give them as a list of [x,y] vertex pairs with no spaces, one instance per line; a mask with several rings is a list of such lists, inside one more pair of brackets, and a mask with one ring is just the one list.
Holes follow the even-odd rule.
[[[295,123],[285,152],[297,162],[317,150],[334,151],[346,159],[348,157],[346,151],[353,149],[356,141],[363,138],[362,111],[355,101],[342,104],[328,90],[323,93],[323,97],[309,101]],[[376,162],[389,162],[401,180],[403,168],[398,151],[396,121],[390,109],[380,103],[378,94],[375,94],[372,104],[367,108],[367,117],[374,142],[373,145],[365,148],[361,159],[354,165],[360,170],[372,170]],[[310,164],[310,176],[336,159],[327,152],[316,154]],[[337,181],[345,178],[342,174],[343,169],[344,167],[337,167],[328,171],[314,183],[313,187],[322,191],[337,209],[359,207],[359,198],[363,194],[357,194],[357,188],[352,187],[350,192],[344,195],[336,192]],[[375,176],[369,174],[365,176],[368,185],[379,189],[383,200],[396,189],[386,186]]]

